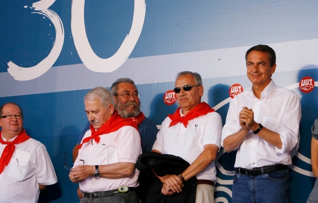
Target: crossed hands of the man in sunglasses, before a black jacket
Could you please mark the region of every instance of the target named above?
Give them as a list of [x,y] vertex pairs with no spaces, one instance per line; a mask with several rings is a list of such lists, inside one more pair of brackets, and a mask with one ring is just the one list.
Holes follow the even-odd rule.
[[174,193],[179,193],[182,191],[183,182],[181,178],[177,175],[168,174],[159,177],[163,183],[161,193],[164,195],[173,195]]

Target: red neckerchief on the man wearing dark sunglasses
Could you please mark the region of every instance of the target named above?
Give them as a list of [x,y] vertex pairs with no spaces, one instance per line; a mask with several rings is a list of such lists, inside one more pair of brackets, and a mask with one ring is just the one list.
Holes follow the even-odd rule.
[[214,109],[209,106],[209,104],[205,102],[201,102],[199,105],[197,105],[195,108],[190,110],[186,115],[182,116],[180,115],[180,109],[179,107],[174,114],[168,115],[168,117],[172,120],[170,122],[169,127],[176,125],[177,123],[183,123],[185,127],[188,125],[188,121],[197,118],[201,115],[206,115],[210,112],[214,112]]

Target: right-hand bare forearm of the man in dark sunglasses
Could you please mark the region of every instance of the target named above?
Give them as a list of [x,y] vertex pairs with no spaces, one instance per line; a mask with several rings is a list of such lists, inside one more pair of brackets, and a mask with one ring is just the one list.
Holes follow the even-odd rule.
[[208,167],[215,160],[218,150],[219,148],[216,145],[205,145],[203,152],[181,173],[184,180],[189,180]]

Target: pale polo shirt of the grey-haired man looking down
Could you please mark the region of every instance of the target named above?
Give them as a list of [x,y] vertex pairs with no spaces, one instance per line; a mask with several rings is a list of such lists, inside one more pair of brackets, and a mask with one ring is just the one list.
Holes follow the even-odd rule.
[[[91,136],[91,130],[88,130],[83,139]],[[138,131],[131,126],[121,127],[119,130],[100,135],[99,143],[89,141],[84,143],[79,149],[79,155],[75,160],[74,167],[78,165],[107,165],[117,162],[136,163],[141,154],[141,142]],[[82,140],[83,141],[83,140]],[[96,192],[115,190],[121,186],[137,187],[139,171],[127,178],[109,179],[95,178],[90,176],[79,182],[79,188],[82,192]]]

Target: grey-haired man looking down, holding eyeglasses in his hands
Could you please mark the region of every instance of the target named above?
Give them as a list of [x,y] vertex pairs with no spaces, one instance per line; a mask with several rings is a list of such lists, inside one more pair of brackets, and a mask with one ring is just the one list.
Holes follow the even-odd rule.
[[69,174],[84,193],[80,202],[138,202],[135,192],[129,189],[138,186],[135,163],[141,146],[137,121],[121,118],[115,110],[114,96],[107,88],[90,90],[84,96],[84,105],[90,130],[79,145]]

